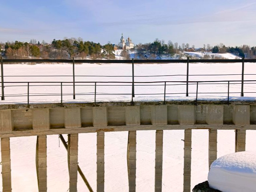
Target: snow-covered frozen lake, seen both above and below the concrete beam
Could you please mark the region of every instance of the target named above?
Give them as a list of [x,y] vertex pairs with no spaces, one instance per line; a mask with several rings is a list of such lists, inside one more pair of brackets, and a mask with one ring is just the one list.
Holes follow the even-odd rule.
[[[240,63],[226,64],[190,64],[191,75],[199,74],[241,74]],[[245,74],[253,74],[255,63],[245,63]],[[75,65],[76,75],[132,75],[131,64],[81,64]],[[135,64],[135,76],[150,75],[185,75],[186,64]],[[71,64],[36,64],[36,65],[4,65],[5,76],[26,75],[72,75]],[[15,81],[72,81],[72,77],[5,77],[6,82]],[[76,77],[76,81],[132,81],[131,77]],[[168,77],[135,77],[139,81],[185,81],[186,76]],[[191,76],[190,81],[210,80],[241,80],[241,75],[234,76]],[[245,80],[256,80],[256,75],[245,75]],[[8,84],[5,84],[8,85]],[[25,84],[24,84],[25,85]],[[189,92],[195,91],[196,85],[189,86]],[[135,87],[135,94],[163,93],[163,86]],[[240,92],[240,85],[230,85],[231,92]],[[227,92],[227,85],[201,85],[199,92]],[[64,87],[64,93],[72,93],[72,87]],[[94,87],[76,87],[76,93],[94,92]],[[100,87],[97,92],[131,92],[128,86]],[[166,92],[186,92],[186,86],[167,86]],[[244,92],[256,92],[254,84],[244,86]],[[5,87],[5,94],[26,94],[26,87]],[[35,86],[30,88],[31,94],[60,93],[59,84],[56,86]],[[191,94],[193,96],[193,94]],[[136,95],[135,100],[142,95]],[[149,95],[153,97],[154,95]],[[162,97],[163,95],[161,95]],[[169,96],[169,95],[167,95]],[[175,95],[177,99],[178,96]],[[201,94],[201,96],[221,96],[213,94]],[[230,94],[240,97],[240,93]],[[255,100],[256,94],[245,93],[246,97]],[[90,101],[94,96],[77,96],[78,101]],[[223,95],[226,97],[226,95]],[[98,101],[108,99],[116,100],[116,96],[97,96]],[[121,97],[130,100],[130,97]],[[5,102],[26,101],[26,97],[6,97]],[[153,98],[155,99],[155,98]],[[31,102],[59,101],[59,96],[31,97]],[[72,96],[64,96],[63,100],[73,101]],[[256,132],[247,131],[246,150],[255,151]],[[67,140],[67,137],[65,137]],[[128,192],[127,174],[127,138],[128,132],[105,133],[105,191]],[[183,147],[184,131],[164,131],[163,148],[163,192],[183,191]],[[11,169],[13,191],[27,192],[37,191],[37,177],[35,167],[36,137],[11,138]],[[60,145],[60,146],[59,146]],[[232,130],[218,131],[218,157],[233,153],[235,150],[235,132]],[[136,189],[139,192],[154,191],[154,167],[155,167],[155,131],[137,131],[137,180]],[[79,166],[87,177],[93,190],[96,191],[96,133],[79,134]],[[208,130],[192,130],[192,172],[191,189],[198,183],[207,180],[208,174]],[[58,135],[47,137],[47,173],[48,191],[66,192],[69,188],[67,152],[62,143],[59,144]],[[0,188],[2,187],[0,181]],[[86,192],[85,184],[78,176],[78,192]]]

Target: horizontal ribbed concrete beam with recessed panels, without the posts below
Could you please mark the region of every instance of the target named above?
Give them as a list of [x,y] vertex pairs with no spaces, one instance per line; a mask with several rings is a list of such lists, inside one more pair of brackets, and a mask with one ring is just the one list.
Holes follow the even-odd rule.
[[82,106],[0,110],[0,136],[197,128],[256,130],[256,105]]

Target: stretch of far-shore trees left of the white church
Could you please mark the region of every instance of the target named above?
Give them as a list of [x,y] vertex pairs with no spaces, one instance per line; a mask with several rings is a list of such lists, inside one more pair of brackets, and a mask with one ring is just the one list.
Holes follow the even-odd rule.
[[112,44],[101,45],[92,41],[83,41],[81,38],[53,39],[50,44],[32,39],[29,43],[6,42],[4,45],[2,44],[2,47],[5,49],[2,53],[8,59],[70,59],[72,57],[85,59],[88,56],[92,59],[101,59],[102,57],[115,59]]

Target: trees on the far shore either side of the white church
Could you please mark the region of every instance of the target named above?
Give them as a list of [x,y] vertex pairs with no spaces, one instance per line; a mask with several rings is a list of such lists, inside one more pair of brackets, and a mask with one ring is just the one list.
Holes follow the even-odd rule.
[[[1,47],[4,48],[1,50]],[[180,54],[185,48],[195,48],[194,45],[190,46],[189,43],[178,44],[164,40],[155,39],[152,43],[139,43],[135,46],[135,59],[143,59],[145,55],[150,59],[158,59],[162,56],[172,57],[175,54]],[[213,53],[233,53],[248,59],[256,58],[256,47],[248,45],[226,47],[223,43],[212,47],[210,44],[204,44],[201,48],[195,49],[196,51]],[[0,43],[0,51],[2,55],[8,59],[25,59],[25,58],[42,58],[42,59],[70,59],[72,57],[79,59],[115,59],[114,47],[112,44],[107,43],[101,45],[93,41],[83,41],[82,38],[64,38],[63,40],[53,39],[51,43],[36,41],[31,39],[30,42],[6,42]],[[121,56],[129,59],[129,52],[124,50]],[[205,55],[208,57],[208,55]]]

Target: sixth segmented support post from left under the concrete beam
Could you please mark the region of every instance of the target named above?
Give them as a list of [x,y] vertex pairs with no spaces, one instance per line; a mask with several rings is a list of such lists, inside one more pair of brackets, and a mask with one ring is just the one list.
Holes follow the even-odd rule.
[[162,191],[163,130],[156,130],[155,192]]

